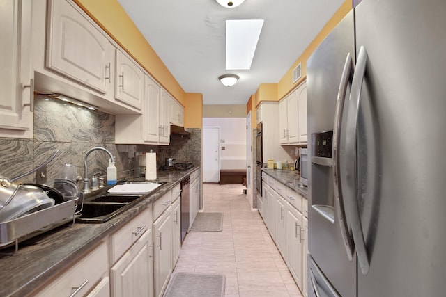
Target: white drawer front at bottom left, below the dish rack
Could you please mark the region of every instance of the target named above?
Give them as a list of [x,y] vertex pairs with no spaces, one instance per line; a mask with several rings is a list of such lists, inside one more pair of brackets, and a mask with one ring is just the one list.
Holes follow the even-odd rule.
[[78,291],[74,296],[85,296],[100,282],[107,269],[107,244],[103,242],[59,278],[45,285],[45,289],[36,296],[72,296],[75,289]]

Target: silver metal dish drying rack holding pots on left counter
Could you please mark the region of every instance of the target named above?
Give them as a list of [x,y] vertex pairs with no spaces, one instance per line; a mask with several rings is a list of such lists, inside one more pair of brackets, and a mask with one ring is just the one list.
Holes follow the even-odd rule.
[[15,245],[17,252],[20,242],[70,221],[74,223],[76,207],[77,198],[0,223],[0,249]]

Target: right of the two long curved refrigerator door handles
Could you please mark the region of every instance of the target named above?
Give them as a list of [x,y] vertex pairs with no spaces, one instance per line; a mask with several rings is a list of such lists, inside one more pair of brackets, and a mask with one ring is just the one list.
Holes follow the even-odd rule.
[[350,105],[348,106],[348,119],[346,127],[346,182],[348,184],[348,213],[351,219],[353,240],[355,241],[357,260],[360,263],[363,275],[369,272],[369,257],[362,233],[362,226],[357,203],[357,168],[356,168],[356,143],[357,143],[357,121],[360,108],[360,96],[362,82],[367,65],[367,51],[364,46],[360,47],[357,55],[355,74],[351,85]]

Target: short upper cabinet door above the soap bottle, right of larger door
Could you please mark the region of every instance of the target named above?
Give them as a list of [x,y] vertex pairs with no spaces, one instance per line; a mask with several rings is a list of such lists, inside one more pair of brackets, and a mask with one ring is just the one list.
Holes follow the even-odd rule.
[[115,97],[118,101],[141,109],[144,98],[144,72],[116,49]]

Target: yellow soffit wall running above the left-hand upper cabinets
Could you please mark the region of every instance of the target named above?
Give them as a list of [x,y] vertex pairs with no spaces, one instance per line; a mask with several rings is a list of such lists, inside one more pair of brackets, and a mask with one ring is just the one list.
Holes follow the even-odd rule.
[[[185,127],[201,127],[203,109],[202,104],[199,105],[198,101],[202,103],[203,97],[201,94],[185,93],[117,0],[75,0],[75,2],[161,86],[185,106]],[[192,104],[193,107],[189,107],[187,104]],[[199,124],[197,120],[193,120],[198,117],[200,118]]]

